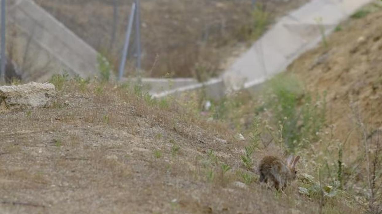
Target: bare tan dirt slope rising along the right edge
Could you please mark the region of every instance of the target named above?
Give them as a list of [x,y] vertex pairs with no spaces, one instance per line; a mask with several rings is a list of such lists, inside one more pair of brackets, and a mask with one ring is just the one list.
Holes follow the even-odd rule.
[[[335,125],[335,133],[342,140],[354,127],[357,114],[367,124],[368,132],[381,128],[381,23],[380,10],[364,18],[352,18],[327,39],[328,47],[322,44],[288,68],[308,90],[320,94],[326,91],[329,123]],[[351,140],[358,144],[358,138]]]

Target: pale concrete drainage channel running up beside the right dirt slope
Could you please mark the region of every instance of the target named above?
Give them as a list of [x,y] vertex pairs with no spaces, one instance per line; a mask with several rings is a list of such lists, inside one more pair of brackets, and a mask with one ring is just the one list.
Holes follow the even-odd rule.
[[[232,90],[256,88],[286,69],[307,50],[329,35],[343,20],[373,0],[312,0],[279,19],[253,46],[243,53],[219,78],[204,83],[156,93],[154,98],[177,97],[195,90],[205,90],[210,99],[218,99]],[[177,80],[169,80],[176,82]]]

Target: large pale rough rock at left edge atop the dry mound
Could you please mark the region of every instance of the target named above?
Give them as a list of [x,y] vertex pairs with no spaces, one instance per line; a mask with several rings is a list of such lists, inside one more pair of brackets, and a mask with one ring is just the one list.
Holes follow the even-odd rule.
[[0,112],[50,107],[57,101],[53,84],[30,82],[0,87]]

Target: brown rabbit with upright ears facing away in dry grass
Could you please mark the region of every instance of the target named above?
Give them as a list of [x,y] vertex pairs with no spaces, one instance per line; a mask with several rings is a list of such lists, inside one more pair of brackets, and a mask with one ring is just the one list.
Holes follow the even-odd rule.
[[277,190],[283,190],[286,183],[296,179],[297,171],[295,166],[300,156],[289,156],[286,164],[280,158],[275,156],[265,156],[259,164],[260,182],[268,183],[268,180],[274,182]]

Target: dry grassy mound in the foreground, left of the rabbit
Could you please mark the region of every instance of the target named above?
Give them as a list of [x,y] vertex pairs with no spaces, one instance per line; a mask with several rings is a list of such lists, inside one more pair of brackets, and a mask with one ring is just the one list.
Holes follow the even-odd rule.
[[[285,196],[257,184],[240,162],[249,142],[222,122],[111,83],[95,93],[97,84],[83,90],[71,80],[54,108],[0,114],[1,212],[317,212],[296,184]],[[253,176],[245,189],[233,185],[243,173]],[[358,213],[342,201],[324,209]]]

